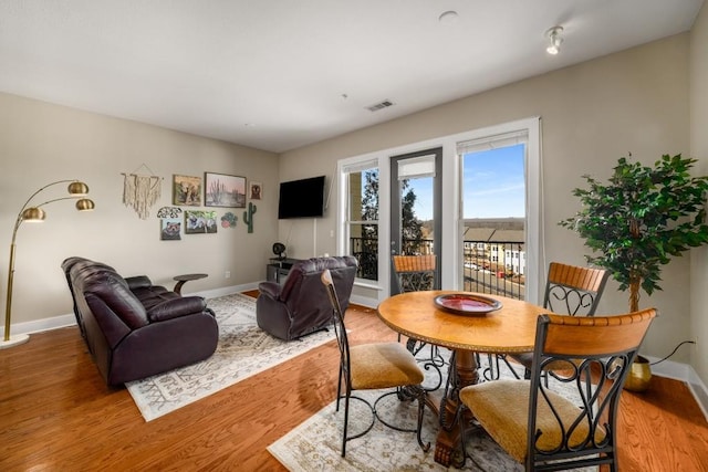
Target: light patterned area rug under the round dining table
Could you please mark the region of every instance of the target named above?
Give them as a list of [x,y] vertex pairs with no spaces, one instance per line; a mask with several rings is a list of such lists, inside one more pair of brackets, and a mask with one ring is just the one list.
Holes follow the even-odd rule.
[[[502,371],[502,376],[510,373]],[[559,382],[560,386],[560,382]],[[559,392],[565,386],[560,386]],[[568,390],[565,390],[568,392]],[[375,400],[382,391],[357,391],[356,396]],[[570,394],[569,394],[570,396]],[[384,400],[377,411],[386,412],[386,420],[415,429],[417,403],[400,402],[395,396]],[[430,442],[430,450],[423,452],[414,432],[398,432],[376,421],[374,429],[364,437],[348,441],[346,458],[342,451],[342,421],[344,405],[335,411],[335,402],[330,403],[298,428],[268,447],[268,451],[289,471],[448,471],[435,462],[435,434],[438,430],[437,417],[426,408],[423,424],[423,440]],[[360,401],[350,403],[350,434],[363,431],[371,419],[371,410]],[[468,458],[464,471],[504,472],[523,471],[517,463],[481,429],[468,434],[466,449]],[[596,471],[596,468],[577,469]]]

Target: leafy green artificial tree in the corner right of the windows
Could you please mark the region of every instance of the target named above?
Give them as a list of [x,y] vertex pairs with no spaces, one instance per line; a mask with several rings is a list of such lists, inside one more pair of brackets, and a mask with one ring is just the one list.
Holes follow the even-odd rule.
[[[639,290],[662,290],[662,265],[671,256],[708,243],[708,177],[691,177],[695,162],[664,155],[646,167],[622,157],[606,185],[583,176],[590,188],[573,190],[583,208],[560,224],[585,240],[593,251],[587,262],[607,269],[621,291],[629,289],[631,312],[639,310]],[[645,358],[637,361],[648,371]]]

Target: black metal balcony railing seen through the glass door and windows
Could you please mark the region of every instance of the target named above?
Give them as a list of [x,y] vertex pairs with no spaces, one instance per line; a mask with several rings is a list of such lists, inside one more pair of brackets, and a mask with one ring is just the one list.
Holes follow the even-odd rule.
[[[404,240],[404,254],[433,254],[433,240]],[[357,277],[378,280],[378,239],[352,238]],[[467,292],[525,297],[524,244],[517,241],[464,241],[464,286]]]

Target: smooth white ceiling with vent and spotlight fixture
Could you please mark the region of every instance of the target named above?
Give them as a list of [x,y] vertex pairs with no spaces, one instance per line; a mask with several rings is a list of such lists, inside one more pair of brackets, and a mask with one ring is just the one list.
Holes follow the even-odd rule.
[[687,31],[701,3],[0,0],[0,91],[281,153]]

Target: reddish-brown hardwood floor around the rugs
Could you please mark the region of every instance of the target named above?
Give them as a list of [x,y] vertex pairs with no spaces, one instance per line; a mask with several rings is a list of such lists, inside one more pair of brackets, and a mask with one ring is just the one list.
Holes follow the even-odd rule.
[[[249,293],[254,295],[253,293]],[[375,311],[347,312],[353,344],[393,340]],[[283,471],[266,448],[332,401],[334,342],[150,422],[103,382],[76,327],[0,350],[0,470]],[[625,391],[623,472],[708,471],[708,424],[688,388]]]

